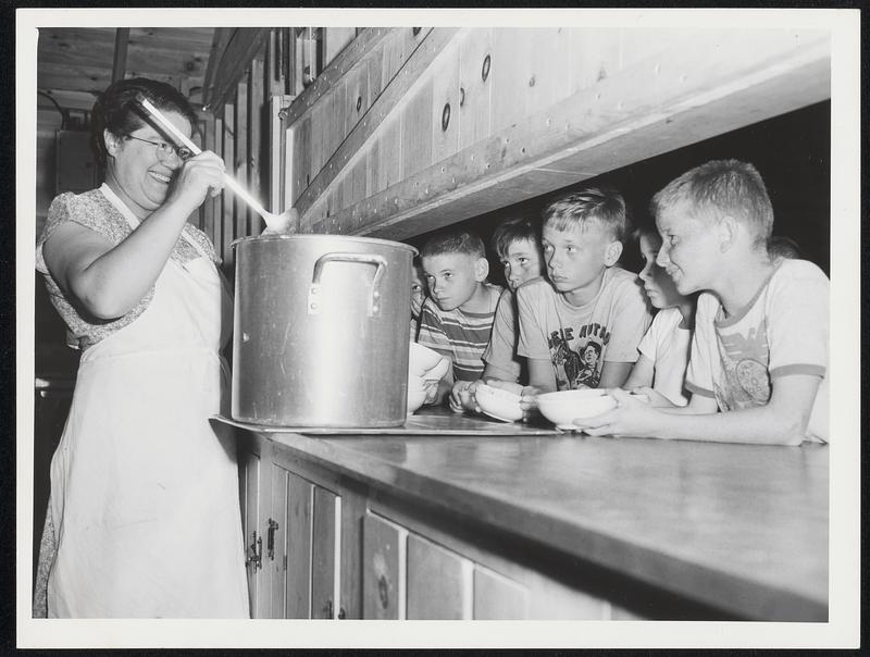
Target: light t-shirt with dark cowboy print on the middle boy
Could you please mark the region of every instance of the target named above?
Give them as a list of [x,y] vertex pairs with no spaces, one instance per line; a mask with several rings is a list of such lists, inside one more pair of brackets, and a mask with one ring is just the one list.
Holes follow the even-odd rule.
[[598,387],[605,361],[635,362],[651,317],[637,276],[605,271],[595,298],[572,306],[544,278],[517,288],[520,342],[517,352],[549,360],[560,391]]

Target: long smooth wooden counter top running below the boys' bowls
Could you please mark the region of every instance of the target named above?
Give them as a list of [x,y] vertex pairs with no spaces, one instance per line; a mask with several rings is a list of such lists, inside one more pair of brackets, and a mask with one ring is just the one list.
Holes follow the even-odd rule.
[[[464,537],[472,551],[631,609],[623,618],[828,619],[825,446],[257,436],[289,471],[331,473],[333,489],[365,498],[348,509],[395,508],[394,519],[435,528],[442,545]],[[341,592],[362,595],[347,582]]]

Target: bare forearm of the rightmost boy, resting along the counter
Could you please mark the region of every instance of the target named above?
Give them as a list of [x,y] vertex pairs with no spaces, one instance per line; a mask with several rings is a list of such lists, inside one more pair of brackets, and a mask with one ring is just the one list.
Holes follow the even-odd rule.
[[767,405],[728,412],[709,412],[716,400],[698,395],[692,396],[687,407],[656,409],[613,391],[618,408],[577,424],[591,435],[799,445],[820,383],[819,376],[810,374],[778,376]]

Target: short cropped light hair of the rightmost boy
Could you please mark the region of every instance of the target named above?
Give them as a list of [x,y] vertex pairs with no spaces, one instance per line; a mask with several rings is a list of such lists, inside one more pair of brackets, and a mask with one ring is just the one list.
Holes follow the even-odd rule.
[[756,244],[767,245],[773,228],[773,206],[758,170],[739,160],[711,160],[696,166],[659,190],[650,211],[659,216],[686,203],[694,219],[713,211],[742,221],[755,232]]

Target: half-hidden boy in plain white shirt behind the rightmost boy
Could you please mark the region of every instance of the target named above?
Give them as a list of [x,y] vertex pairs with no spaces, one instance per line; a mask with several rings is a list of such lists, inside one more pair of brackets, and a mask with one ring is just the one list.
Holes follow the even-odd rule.
[[641,356],[622,387],[646,395],[652,406],[685,406],[695,295],[686,297],[676,292],[668,272],[656,264],[661,237],[655,226],[638,228],[635,236],[644,261],[638,277],[649,305],[659,311],[637,347]]

